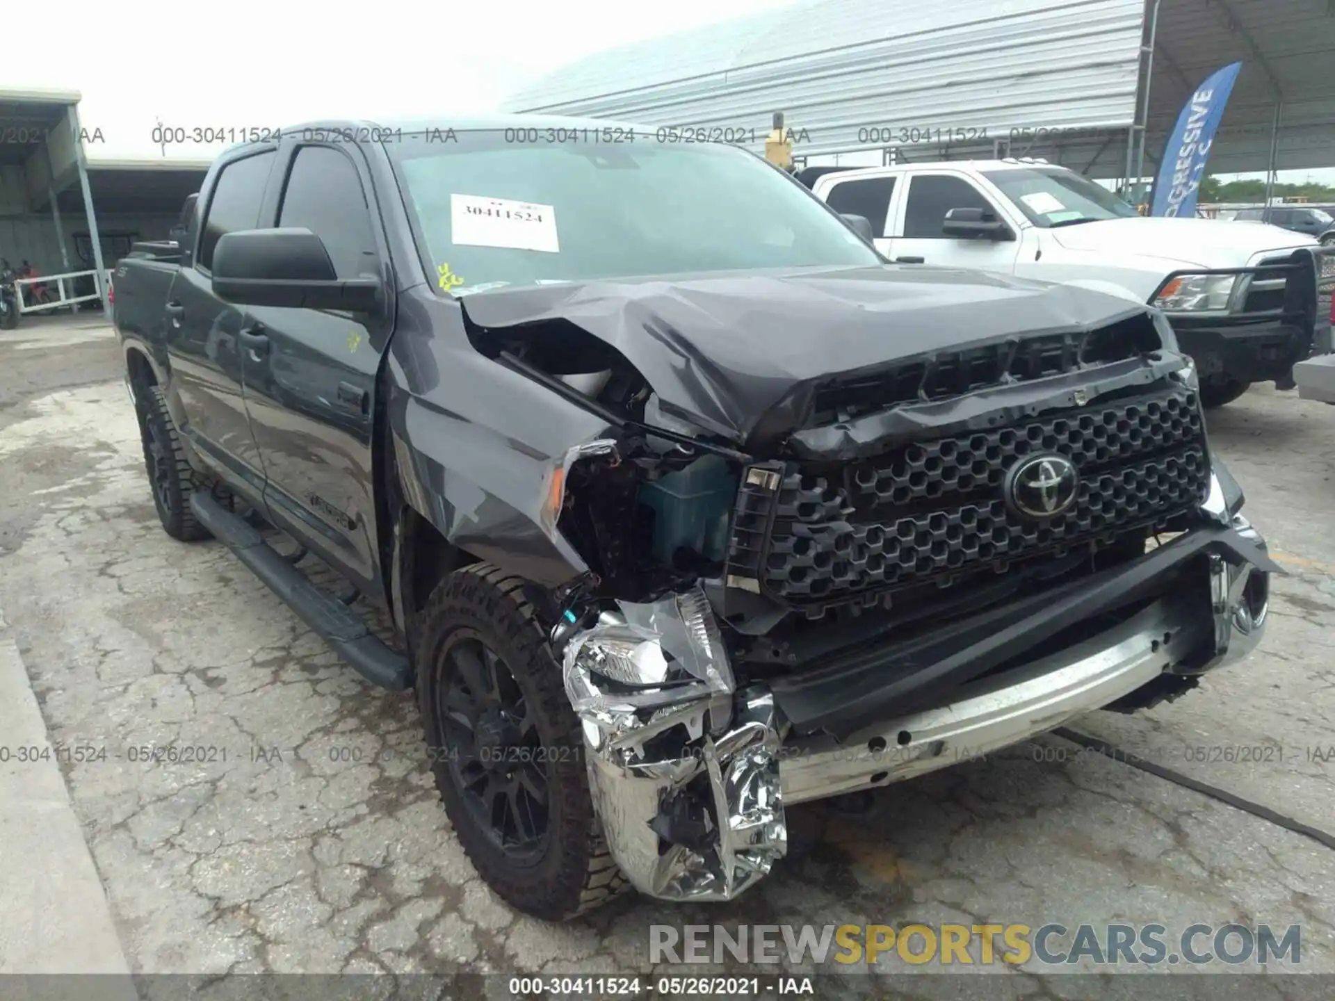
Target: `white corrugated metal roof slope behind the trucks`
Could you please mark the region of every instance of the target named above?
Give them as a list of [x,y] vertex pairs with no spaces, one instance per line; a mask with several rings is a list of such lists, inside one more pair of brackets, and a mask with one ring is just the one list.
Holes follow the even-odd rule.
[[503,107],[651,125],[805,129],[794,152],[877,147],[868,129],[1127,127],[1141,0],[802,0],[579,60]]

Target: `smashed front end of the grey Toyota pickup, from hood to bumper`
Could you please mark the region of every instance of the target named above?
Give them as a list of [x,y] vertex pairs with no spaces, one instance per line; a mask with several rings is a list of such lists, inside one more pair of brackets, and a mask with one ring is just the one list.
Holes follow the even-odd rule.
[[785,805],[1176,698],[1262,635],[1278,567],[1163,316],[943,274],[466,299],[478,351],[606,422],[538,521],[641,893],[730,900]]

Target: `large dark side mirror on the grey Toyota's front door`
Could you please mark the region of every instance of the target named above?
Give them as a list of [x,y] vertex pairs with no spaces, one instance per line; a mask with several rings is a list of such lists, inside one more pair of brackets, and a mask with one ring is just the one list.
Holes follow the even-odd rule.
[[214,295],[238,306],[371,312],[374,278],[340,280],[324,242],[306,228],[240,230],[214,247]]

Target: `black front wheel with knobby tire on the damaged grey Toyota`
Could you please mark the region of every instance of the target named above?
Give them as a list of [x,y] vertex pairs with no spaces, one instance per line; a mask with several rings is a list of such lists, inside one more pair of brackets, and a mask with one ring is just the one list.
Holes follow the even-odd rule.
[[627,884],[594,814],[561,665],[522,586],[487,563],[437,586],[414,630],[418,705],[469,860],[511,906],[566,920]]

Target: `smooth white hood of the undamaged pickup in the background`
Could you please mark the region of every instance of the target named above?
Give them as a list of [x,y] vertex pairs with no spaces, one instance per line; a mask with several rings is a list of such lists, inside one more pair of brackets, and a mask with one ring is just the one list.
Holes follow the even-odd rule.
[[1316,240],[1270,223],[1220,219],[1104,219],[1049,231],[1068,250],[1147,254],[1187,267],[1246,267],[1255,254],[1314,247]]

